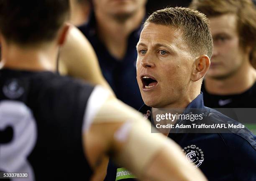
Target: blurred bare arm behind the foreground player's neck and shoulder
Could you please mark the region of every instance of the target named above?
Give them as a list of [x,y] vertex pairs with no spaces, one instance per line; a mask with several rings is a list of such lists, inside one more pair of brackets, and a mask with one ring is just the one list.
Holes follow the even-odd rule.
[[59,71],[61,75],[69,75],[74,78],[84,79],[92,84],[100,84],[113,93],[101,73],[92,45],[73,25],[70,25],[67,39],[60,49],[59,56]]

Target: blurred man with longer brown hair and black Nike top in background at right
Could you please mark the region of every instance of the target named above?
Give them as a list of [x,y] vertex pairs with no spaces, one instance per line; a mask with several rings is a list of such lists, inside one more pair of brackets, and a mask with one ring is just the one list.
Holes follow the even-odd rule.
[[193,0],[210,19],[213,55],[202,85],[205,106],[256,108],[256,7],[252,0]]

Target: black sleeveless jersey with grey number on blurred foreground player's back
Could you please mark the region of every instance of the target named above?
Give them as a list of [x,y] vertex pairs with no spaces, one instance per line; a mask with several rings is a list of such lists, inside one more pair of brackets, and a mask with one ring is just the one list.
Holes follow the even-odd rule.
[[[26,141],[23,139],[24,133],[30,136],[36,135],[35,145],[31,152],[27,152],[28,155],[23,158],[20,157],[21,152],[25,153],[23,148],[20,149],[20,146],[17,146],[13,151],[13,158],[20,157],[29,161],[28,163],[20,162],[20,159],[12,159],[11,161],[15,166],[19,166],[20,163],[23,165],[28,163],[33,170],[36,181],[89,180],[93,170],[84,156],[82,126],[84,124],[84,111],[93,89],[93,86],[82,81],[48,71],[1,69],[0,103],[3,103],[2,101],[15,101],[26,104],[33,113],[36,133],[33,134],[32,129],[25,129],[27,127],[24,127],[19,135],[15,135],[13,124],[10,124],[9,133],[4,131],[5,127],[3,130],[0,128],[0,136],[5,138],[4,140],[2,140],[3,138],[0,139],[0,148],[3,146],[3,141],[5,141],[4,144],[17,144],[15,139],[18,136],[21,137],[18,144],[22,144],[24,147],[28,146],[28,144],[23,143]],[[20,96],[10,96],[17,95],[19,90],[23,90]],[[13,108],[12,111],[17,110]],[[3,112],[1,111],[1,113]],[[19,115],[22,115],[20,121],[28,119],[27,114],[26,117],[21,113],[13,116]],[[3,116],[0,117],[4,118]],[[0,155],[2,154],[1,151]],[[1,157],[5,158],[5,155],[2,154]],[[1,168],[7,167],[1,165]],[[34,179],[32,177],[29,180]]]

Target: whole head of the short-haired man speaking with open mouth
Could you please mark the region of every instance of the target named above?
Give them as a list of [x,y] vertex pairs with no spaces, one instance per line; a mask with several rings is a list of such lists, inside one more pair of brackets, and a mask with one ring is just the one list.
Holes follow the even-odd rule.
[[[158,33],[160,29],[162,36]],[[165,33],[169,29],[172,33]],[[160,37],[153,36],[153,30]],[[148,35],[151,36],[148,37]],[[163,42],[148,47],[157,40],[163,40]],[[170,43],[174,45],[170,45]],[[154,49],[158,53],[156,55],[159,56],[159,59],[162,59],[156,62],[159,64],[159,68],[155,66],[156,63],[151,63],[157,56],[154,57],[152,53],[153,57],[149,57],[151,55],[147,55],[149,48]],[[156,108],[169,107],[170,103],[177,108],[186,107],[200,95],[202,78],[210,66],[212,37],[208,28],[208,20],[202,13],[188,8],[158,10],[150,15],[144,23],[143,32],[137,44],[137,51],[137,81],[144,103]],[[169,58],[173,60],[164,61],[164,59]],[[151,73],[153,74],[151,75]],[[173,74],[173,77],[162,76],[161,80],[158,81],[157,77],[160,76],[158,73]],[[152,79],[143,78],[144,76],[153,76],[155,81],[152,82]],[[174,88],[174,85],[177,85],[177,88]],[[151,91],[151,89],[160,88],[163,88],[160,94],[158,91]],[[159,104],[156,104],[154,98]]]

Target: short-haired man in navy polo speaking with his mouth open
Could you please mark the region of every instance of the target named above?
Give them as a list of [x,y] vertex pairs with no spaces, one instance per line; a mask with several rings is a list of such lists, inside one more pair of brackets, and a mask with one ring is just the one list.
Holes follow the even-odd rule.
[[[188,162],[199,167],[210,181],[253,181],[256,137],[247,128],[228,128],[227,124],[240,124],[205,107],[200,93],[212,56],[212,37],[205,15],[178,7],[154,12],[144,23],[137,52],[137,81],[145,103],[140,111],[145,117],[156,127],[171,125],[159,130],[176,141]],[[163,117],[168,114],[166,111],[174,116],[197,115],[202,119],[176,117],[157,122],[156,115]],[[179,127],[193,124],[197,128]],[[203,129],[199,127],[202,125],[227,128]],[[118,168],[118,173],[120,170],[124,168]],[[119,174],[116,178],[123,180]]]

